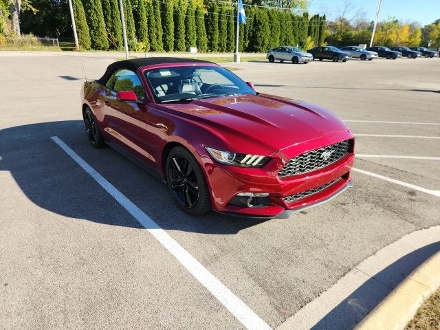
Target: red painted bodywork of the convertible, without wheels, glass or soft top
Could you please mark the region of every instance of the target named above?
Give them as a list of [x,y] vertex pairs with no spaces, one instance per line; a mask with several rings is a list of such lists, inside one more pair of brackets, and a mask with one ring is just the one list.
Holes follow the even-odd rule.
[[[137,70],[149,100],[154,100],[144,71],[194,65],[168,63]],[[203,63],[212,65],[214,63]],[[289,159],[336,142],[354,139],[336,115],[312,104],[267,94],[193,100],[184,104],[119,101],[114,91],[98,82],[85,83],[83,109],[89,106],[105,140],[115,142],[164,178],[164,162],[171,146],[181,144],[195,156],[206,176],[212,208],[255,217],[275,217],[284,210],[312,206],[347,186],[354,151],[318,170],[278,177]],[[270,156],[261,168],[242,168],[215,162],[205,146],[235,153]],[[293,203],[282,197],[316,188],[341,178],[314,195]],[[238,192],[269,192],[270,206],[241,208],[228,205]]]

